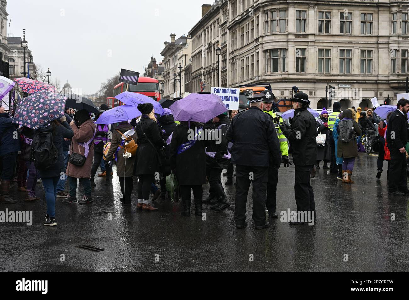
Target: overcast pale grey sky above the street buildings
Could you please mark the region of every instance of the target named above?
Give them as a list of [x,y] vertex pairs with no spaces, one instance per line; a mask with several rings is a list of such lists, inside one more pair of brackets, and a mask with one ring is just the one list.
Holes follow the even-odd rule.
[[[8,0],[7,34],[26,29],[34,62],[83,94],[121,68],[143,73],[163,42],[188,31],[206,0]],[[11,20],[10,27],[9,22]],[[112,56],[109,54],[112,53]]]

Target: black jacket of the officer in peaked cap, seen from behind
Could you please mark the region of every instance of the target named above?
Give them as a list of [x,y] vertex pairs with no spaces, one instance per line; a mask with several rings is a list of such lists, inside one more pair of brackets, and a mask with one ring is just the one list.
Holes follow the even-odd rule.
[[230,123],[226,138],[233,143],[231,163],[243,166],[279,167],[281,150],[274,122],[269,114],[253,106],[238,113]]

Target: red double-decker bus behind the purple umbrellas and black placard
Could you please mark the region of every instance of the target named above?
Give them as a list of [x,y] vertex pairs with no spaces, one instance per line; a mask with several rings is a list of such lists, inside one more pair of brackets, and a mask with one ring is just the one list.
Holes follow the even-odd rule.
[[[115,96],[125,91],[126,83],[120,82],[115,85],[112,97],[107,98],[107,105],[110,107],[123,105],[124,103],[122,103],[118,99],[115,99]],[[160,100],[159,82],[155,78],[139,77],[138,85],[130,84],[128,87],[128,92],[143,94],[151,97],[155,101]]]

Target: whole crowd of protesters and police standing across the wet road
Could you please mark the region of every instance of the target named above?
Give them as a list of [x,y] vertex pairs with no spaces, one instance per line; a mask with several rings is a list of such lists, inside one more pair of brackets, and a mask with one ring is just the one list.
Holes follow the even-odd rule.
[[[265,221],[265,208],[270,218],[277,217],[278,169],[281,163],[285,167],[291,164],[289,152],[295,164],[297,211],[315,213],[310,178],[315,176],[317,168],[321,168],[320,162],[323,161],[322,168],[329,169],[330,174],[337,175],[346,184],[353,184],[353,168],[361,137],[366,131],[374,130],[376,125],[380,135],[376,177],[380,178],[383,162],[388,161],[389,194],[409,195],[405,150],[409,127],[408,100],[398,101],[396,111],[390,112],[385,120],[372,110],[363,112],[360,107],[357,111],[355,108],[342,111],[339,102],[333,104],[333,112],[324,108],[315,119],[307,110],[308,95],[297,93],[292,99],[294,117],[289,125],[272,111],[273,100],[274,95],[266,90],[249,98],[248,110],[231,110],[207,123],[180,121],[178,124],[171,113],[155,114],[151,103],[137,106],[142,113],[139,118],[110,125],[98,124],[100,115],[109,110],[107,105],[101,105],[100,113],[93,119],[87,110],[74,112],[66,107],[61,119],[51,121],[37,131],[19,128],[12,123],[10,114],[0,107],[0,201],[7,204],[18,201],[10,192],[12,181],[17,182],[18,192],[25,193],[25,201],[36,201],[40,199],[36,184],[41,181],[47,203],[43,224],[55,226],[57,198],[61,198],[63,204],[91,203],[98,168],[101,168],[99,176],[105,177],[105,185],[109,186],[112,184],[112,163],[115,162],[122,192],[118,200],[123,206],[132,206],[131,195],[136,181],[137,210],[157,211],[153,201],[159,195],[161,199],[169,199],[166,177],[174,173],[180,186],[182,215],[190,216],[192,193],[195,215],[202,215],[203,203],[209,203],[211,209],[219,212],[230,206],[224,185],[233,184],[236,177],[236,227],[244,228],[247,224],[245,207],[252,183],[255,228],[267,228],[270,223]],[[189,139],[191,130],[196,130],[197,136],[203,129],[212,134],[220,132],[221,139]],[[38,134],[51,134],[57,151],[56,161],[46,170],[37,170],[32,159],[33,140]],[[325,138],[318,142],[318,135]],[[166,142],[170,137],[170,143]],[[108,143],[110,147],[106,148]],[[131,146],[136,150],[134,155],[127,156]],[[82,156],[84,161],[76,163],[73,153]],[[223,184],[224,169],[227,181]],[[254,178],[249,178],[249,173]],[[206,181],[210,188],[206,193],[208,197],[203,199]],[[155,186],[156,182],[160,182],[160,188]],[[76,195],[78,184],[83,187],[82,197]]]

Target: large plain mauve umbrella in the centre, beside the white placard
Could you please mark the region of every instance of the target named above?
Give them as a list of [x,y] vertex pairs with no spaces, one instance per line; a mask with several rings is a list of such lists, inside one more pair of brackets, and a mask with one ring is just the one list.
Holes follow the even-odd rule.
[[226,106],[216,94],[192,93],[176,101],[170,107],[176,121],[205,123],[215,116],[227,112]]

